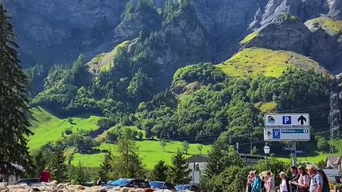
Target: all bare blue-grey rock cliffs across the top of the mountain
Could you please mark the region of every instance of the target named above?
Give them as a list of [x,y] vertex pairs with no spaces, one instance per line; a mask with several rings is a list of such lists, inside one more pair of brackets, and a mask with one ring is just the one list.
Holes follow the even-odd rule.
[[[133,0],[133,4],[137,1],[139,0]],[[203,34],[199,34],[198,31],[193,34],[184,34],[181,33],[182,31],[178,33],[179,28],[172,28],[173,26],[167,30],[180,36],[180,39],[183,38],[182,36],[197,38],[205,36],[204,41],[209,41],[210,45],[199,44],[209,46],[209,60],[213,63],[219,63],[232,56],[239,49],[239,41],[252,31],[260,31],[260,28],[264,36],[256,38],[250,46],[263,44],[264,47],[284,48],[297,53],[313,52],[307,50],[308,44],[312,43],[312,38],[306,38],[310,31],[302,23],[321,14],[342,19],[341,0],[189,1],[194,8],[195,20],[201,25],[199,28],[204,29],[204,31],[200,30]],[[99,53],[112,50],[123,41],[133,40],[144,27],[151,31],[160,29],[158,26],[160,21],[151,18],[143,20],[143,16],[139,13],[133,13],[130,19],[122,17],[128,0],[0,0],[0,2],[5,4],[9,14],[13,16],[15,32],[19,36],[19,46],[21,46],[19,53],[26,67],[38,62],[47,65],[68,63],[75,60],[80,53],[84,53],[90,59]],[[160,13],[165,9],[166,2],[166,0],[154,0],[155,7],[159,8]],[[279,25],[284,14],[296,16],[299,18],[299,23]],[[277,33],[273,33],[274,30]],[[266,35],[268,33],[271,35]],[[286,41],[288,39],[291,41]],[[198,39],[192,41],[199,42]],[[189,39],[190,43],[180,45],[188,46],[190,49],[194,46],[192,41]],[[265,41],[266,43],[263,43]],[[271,43],[267,43],[270,41],[279,42],[276,43],[279,46],[272,47]],[[171,48],[170,52],[172,51]],[[170,57],[168,60],[173,60],[172,56]],[[197,59],[190,57],[185,63],[195,60]],[[175,64],[170,62],[169,64]]]

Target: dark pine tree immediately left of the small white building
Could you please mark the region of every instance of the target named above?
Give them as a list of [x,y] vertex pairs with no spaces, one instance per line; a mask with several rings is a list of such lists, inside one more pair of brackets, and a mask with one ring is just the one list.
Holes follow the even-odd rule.
[[185,184],[191,181],[191,170],[187,164],[187,159],[183,155],[183,152],[178,149],[177,154],[171,158],[172,166],[168,171],[167,181],[175,184]]

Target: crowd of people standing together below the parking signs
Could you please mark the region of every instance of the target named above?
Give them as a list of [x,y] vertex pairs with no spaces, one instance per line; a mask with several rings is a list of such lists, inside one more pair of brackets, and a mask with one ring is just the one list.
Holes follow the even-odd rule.
[[[250,171],[247,176],[246,192],[276,192],[276,182],[271,171]],[[281,180],[280,192],[329,192],[328,177],[322,169],[315,165],[292,166],[290,173],[282,171],[279,174]]]

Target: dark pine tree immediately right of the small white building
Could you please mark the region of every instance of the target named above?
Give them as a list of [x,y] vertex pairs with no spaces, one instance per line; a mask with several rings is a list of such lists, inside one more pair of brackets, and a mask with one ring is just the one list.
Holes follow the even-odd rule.
[[209,160],[204,167],[204,174],[208,178],[219,175],[224,171],[224,161],[222,159],[223,146],[220,142],[215,142],[209,150]]

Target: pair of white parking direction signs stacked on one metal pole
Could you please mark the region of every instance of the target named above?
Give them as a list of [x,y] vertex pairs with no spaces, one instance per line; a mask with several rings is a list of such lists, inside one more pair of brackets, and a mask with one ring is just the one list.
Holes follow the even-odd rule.
[[296,150],[296,142],[307,142],[310,138],[310,117],[307,113],[265,114],[265,142],[291,142],[292,164],[296,166],[296,154],[305,154],[304,150]]

